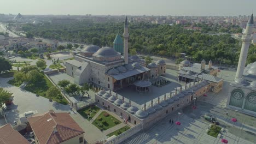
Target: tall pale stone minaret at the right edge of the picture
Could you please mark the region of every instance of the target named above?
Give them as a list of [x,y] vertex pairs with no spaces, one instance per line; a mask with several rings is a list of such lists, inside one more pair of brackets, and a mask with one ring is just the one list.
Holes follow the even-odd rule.
[[248,20],[246,30],[242,36],[243,44],[240,52],[237,70],[236,70],[236,79],[242,78],[243,70],[245,69],[248,49],[252,41],[252,33],[253,33],[253,14],[251,15],[251,18]]

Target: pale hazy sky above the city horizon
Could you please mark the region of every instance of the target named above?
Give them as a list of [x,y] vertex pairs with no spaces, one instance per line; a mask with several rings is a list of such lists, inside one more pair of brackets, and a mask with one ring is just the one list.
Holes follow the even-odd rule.
[[0,0],[0,5],[0,13],[23,15],[237,16],[256,13],[256,0]]

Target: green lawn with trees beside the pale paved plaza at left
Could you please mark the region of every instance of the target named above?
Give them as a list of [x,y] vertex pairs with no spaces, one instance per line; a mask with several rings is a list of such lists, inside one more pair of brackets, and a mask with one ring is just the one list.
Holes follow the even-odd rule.
[[[42,97],[48,98],[46,96],[46,91],[49,87],[52,86],[54,86],[53,83],[51,83],[50,80],[44,75],[44,79],[42,81],[37,82],[36,84],[28,83],[28,85],[25,87],[25,90],[41,95]],[[62,96],[61,93],[51,99],[64,105],[68,104],[68,101]]]

